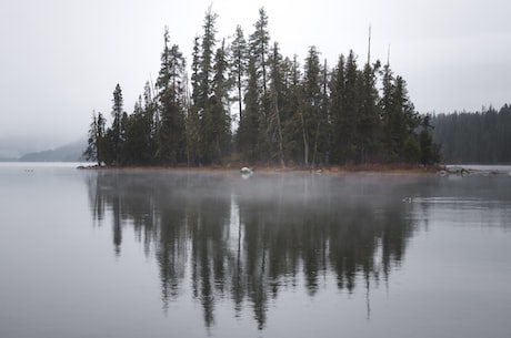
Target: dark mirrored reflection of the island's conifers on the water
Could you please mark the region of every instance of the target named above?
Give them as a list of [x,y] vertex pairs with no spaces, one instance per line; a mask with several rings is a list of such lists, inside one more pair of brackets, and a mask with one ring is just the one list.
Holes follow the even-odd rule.
[[281,290],[302,283],[313,297],[327,275],[339,290],[361,284],[369,296],[417,228],[403,217],[412,192],[403,177],[99,172],[88,187],[116,255],[134,229],[157,258],[163,309],[191,285],[208,327],[216,304],[229,300],[237,316],[252,308],[262,329]]

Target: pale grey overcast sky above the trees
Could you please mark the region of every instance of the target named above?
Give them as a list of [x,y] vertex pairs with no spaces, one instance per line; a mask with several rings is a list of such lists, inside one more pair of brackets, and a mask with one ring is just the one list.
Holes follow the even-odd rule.
[[[73,141],[92,111],[110,115],[120,83],[131,113],[160,68],[164,27],[191,61],[204,12],[218,13],[218,39],[241,24],[252,33],[259,8],[282,54],[303,60],[315,45],[330,65],[352,49],[387,60],[421,112],[477,111],[511,103],[509,0],[2,0],[0,140],[32,134]],[[302,62],[303,63],[303,62]]]

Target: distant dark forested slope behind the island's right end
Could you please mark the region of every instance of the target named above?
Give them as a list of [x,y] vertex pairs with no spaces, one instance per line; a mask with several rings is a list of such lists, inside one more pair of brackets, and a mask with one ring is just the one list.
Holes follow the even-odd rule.
[[445,163],[511,163],[511,105],[431,117]]

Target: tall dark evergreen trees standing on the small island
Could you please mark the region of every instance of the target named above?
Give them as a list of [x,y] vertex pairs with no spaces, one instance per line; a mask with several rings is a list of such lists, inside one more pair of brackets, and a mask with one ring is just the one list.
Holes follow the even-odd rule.
[[161,69],[133,112],[113,92],[111,125],[93,114],[86,155],[100,165],[189,166],[248,163],[304,166],[438,163],[429,117],[419,115],[389,62],[360,66],[350,51],[331,68],[310,47],[303,65],[271,42],[260,9],[246,38],[217,38],[207,11],[196,37],[191,74],[164,31]]

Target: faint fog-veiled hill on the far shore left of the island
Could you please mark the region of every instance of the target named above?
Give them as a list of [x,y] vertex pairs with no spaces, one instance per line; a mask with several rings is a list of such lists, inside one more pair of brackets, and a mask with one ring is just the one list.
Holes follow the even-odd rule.
[[28,153],[21,156],[18,161],[20,162],[80,162],[86,161],[82,153],[87,147],[84,140],[79,140],[73,143],[69,143],[59,146],[54,150],[48,150],[36,153]]

